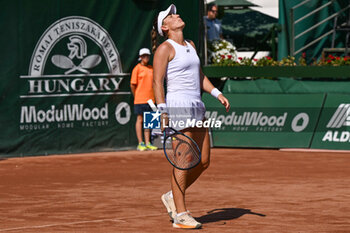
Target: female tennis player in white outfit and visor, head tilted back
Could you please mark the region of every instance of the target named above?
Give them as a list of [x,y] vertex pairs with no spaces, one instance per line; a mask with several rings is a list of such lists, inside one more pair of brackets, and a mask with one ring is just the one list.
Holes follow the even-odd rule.
[[[196,141],[202,152],[199,165],[190,170],[174,168],[171,178],[171,191],[161,199],[175,228],[200,228],[186,208],[185,191],[201,173],[208,168],[210,144],[207,128],[179,127],[176,121],[204,120],[205,106],[201,100],[201,89],[210,93],[229,110],[229,101],[214,88],[200,68],[200,61],[192,41],[183,37],[185,23],[176,14],[175,5],[170,5],[156,17],[152,30],[153,90],[157,108],[162,112],[162,128],[170,124]],[[167,40],[157,48],[157,34]],[[164,78],[167,80],[167,95],[164,95]],[[168,120],[167,120],[168,119]],[[164,123],[164,124],[163,124]]]

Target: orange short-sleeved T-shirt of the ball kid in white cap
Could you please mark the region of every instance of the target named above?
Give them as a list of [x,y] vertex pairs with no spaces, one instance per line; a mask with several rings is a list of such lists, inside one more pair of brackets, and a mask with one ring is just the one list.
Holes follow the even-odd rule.
[[147,104],[147,100],[154,100],[153,67],[137,64],[131,73],[131,84],[136,85],[134,104]]

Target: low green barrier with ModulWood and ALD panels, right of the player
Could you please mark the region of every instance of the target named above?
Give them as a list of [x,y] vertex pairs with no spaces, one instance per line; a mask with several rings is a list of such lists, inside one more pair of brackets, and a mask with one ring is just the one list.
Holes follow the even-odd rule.
[[216,147],[350,150],[350,95],[225,94],[229,113],[210,95],[206,117]]

